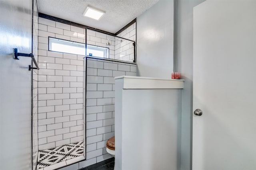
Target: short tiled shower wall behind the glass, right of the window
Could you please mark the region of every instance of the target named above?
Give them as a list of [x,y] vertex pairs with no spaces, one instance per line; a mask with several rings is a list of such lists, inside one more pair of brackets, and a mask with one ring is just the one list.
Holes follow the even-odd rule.
[[[128,40],[123,40],[123,42],[116,41],[115,42],[115,58],[117,60],[122,61],[134,61],[134,45],[132,41],[136,41],[136,22],[126,28],[124,31],[117,35],[118,37],[122,37]],[[119,40],[121,38],[118,38]],[[126,70],[122,70],[126,71]]]

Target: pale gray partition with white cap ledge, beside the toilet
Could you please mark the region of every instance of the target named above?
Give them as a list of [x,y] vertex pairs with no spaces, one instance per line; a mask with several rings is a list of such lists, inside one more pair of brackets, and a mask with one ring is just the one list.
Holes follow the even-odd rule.
[[116,78],[116,170],[178,169],[183,86],[183,80]]

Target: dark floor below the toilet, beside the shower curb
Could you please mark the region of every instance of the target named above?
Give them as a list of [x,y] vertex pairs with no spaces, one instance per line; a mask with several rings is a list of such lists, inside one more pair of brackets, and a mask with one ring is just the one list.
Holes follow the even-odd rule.
[[110,158],[102,162],[87,166],[80,170],[114,170],[115,158]]

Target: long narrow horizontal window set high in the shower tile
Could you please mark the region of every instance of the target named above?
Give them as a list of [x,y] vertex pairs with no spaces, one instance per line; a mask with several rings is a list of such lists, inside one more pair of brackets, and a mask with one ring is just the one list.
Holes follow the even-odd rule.
[[[85,44],[49,37],[49,51],[85,55]],[[86,55],[109,58],[109,49],[96,45],[87,45]]]

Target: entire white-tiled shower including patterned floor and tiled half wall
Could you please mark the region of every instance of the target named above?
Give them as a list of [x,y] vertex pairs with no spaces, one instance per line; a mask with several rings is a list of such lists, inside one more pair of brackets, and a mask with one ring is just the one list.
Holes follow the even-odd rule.
[[48,37],[79,43],[87,37],[87,44],[107,47],[108,39],[118,39],[112,35],[38,16],[34,24],[40,70],[33,72],[33,169],[79,161],[83,168],[110,158],[105,146],[114,136],[114,77],[136,76],[136,23],[118,34],[124,41],[111,41],[110,59],[49,51]]

